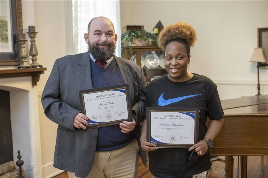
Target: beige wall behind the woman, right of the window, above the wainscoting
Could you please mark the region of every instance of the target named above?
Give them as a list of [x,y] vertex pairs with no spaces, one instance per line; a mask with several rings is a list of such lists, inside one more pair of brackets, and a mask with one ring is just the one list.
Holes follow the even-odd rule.
[[[214,81],[257,82],[256,63],[248,62],[257,47],[257,28],[268,27],[268,1],[120,1],[121,27],[152,28],[186,21],[197,31],[189,71]],[[123,31],[122,31],[123,33]],[[268,83],[268,70],[260,81]]]

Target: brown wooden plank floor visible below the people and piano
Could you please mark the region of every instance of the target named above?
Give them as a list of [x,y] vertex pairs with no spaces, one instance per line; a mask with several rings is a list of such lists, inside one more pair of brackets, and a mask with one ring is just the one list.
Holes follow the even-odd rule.
[[[224,156],[219,158],[224,159]],[[234,156],[234,168],[233,168],[233,177],[237,177],[237,156]],[[147,159],[148,160],[148,159]],[[248,156],[247,157],[247,178],[268,178],[268,157],[264,156]],[[240,162],[240,161],[239,161]],[[148,165],[147,161],[147,165]],[[208,172],[208,178],[224,178],[228,177],[227,173],[224,170],[225,163],[220,161],[214,161],[212,163],[211,169]],[[149,167],[144,167],[139,159],[138,166],[138,178],[153,178],[152,174],[149,171]],[[240,176],[240,163],[239,163],[239,175]],[[55,176],[54,178],[68,178],[67,172],[63,172]]]

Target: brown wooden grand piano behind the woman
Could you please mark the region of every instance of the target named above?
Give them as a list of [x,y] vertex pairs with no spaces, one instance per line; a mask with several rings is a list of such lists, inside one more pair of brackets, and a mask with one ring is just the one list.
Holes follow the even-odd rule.
[[228,177],[233,178],[233,156],[240,156],[241,178],[245,178],[247,156],[268,156],[268,95],[222,100],[221,103],[224,124],[210,147],[211,157],[225,156]]

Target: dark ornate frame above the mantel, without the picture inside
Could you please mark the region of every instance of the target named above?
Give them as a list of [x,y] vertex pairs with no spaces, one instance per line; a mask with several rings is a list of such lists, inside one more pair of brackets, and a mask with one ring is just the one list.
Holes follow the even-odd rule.
[[0,53],[0,66],[18,66],[19,61],[19,46],[17,43],[17,35],[23,33],[22,27],[22,8],[21,0],[10,0],[11,24],[12,24],[12,40],[13,52]]

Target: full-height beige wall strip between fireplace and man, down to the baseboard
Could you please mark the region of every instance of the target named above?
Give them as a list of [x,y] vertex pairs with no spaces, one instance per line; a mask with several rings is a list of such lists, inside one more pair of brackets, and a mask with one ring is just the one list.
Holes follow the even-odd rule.
[[[26,3],[24,1],[24,3]],[[57,124],[50,121],[43,112],[41,95],[54,61],[66,50],[65,1],[34,1],[35,29],[38,31],[36,45],[38,62],[47,68],[37,83],[42,156],[42,177],[53,177],[62,171],[53,167]]]

